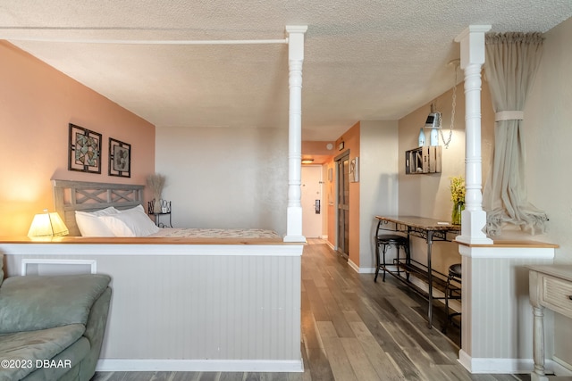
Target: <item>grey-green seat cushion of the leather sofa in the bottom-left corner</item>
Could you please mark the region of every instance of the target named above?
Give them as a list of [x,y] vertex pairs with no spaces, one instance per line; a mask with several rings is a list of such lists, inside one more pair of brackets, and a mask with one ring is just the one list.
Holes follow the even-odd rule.
[[[44,360],[51,360],[58,353],[74,345],[76,354],[74,359],[63,360],[61,363],[48,363],[55,368],[64,370],[63,373],[75,366],[79,360],[85,357],[89,351],[89,342],[82,338],[85,327],[81,324],[42,329],[38,331],[17,332],[0,335],[0,380],[21,379],[36,369],[46,367]],[[78,340],[84,341],[75,345]],[[81,353],[80,353],[81,352]],[[40,361],[38,364],[37,361]],[[8,367],[3,367],[8,361]],[[10,365],[11,363],[12,366]],[[39,365],[39,366],[38,366]]]

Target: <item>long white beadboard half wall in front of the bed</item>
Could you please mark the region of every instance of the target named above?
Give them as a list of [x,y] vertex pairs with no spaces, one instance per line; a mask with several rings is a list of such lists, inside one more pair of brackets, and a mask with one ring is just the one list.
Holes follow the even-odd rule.
[[[99,369],[302,370],[300,245],[4,245],[113,278]],[[17,254],[13,254],[17,253]]]

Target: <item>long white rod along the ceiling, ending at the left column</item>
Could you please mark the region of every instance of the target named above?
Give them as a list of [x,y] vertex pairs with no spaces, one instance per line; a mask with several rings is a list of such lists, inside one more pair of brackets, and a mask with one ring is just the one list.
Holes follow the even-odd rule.
[[90,38],[49,38],[49,37],[0,37],[12,41],[55,42],[71,44],[115,44],[115,45],[254,45],[288,44],[282,39],[243,39],[243,40],[126,40]]

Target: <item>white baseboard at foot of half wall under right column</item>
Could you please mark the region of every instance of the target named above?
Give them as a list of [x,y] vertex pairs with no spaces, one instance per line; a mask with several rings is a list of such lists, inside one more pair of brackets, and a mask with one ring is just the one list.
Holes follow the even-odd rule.
[[[522,374],[531,373],[534,369],[533,359],[490,359],[471,358],[467,352],[458,352],[458,362],[473,374]],[[547,373],[558,376],[572,376],[572,371],[555,360],[546,360],[544,368]]]

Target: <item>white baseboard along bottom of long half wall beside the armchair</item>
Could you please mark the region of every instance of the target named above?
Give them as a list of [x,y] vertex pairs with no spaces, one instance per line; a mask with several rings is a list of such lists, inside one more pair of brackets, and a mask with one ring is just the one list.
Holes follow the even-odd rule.
[[303,372],[302,360],[99,359],[99,372]]

